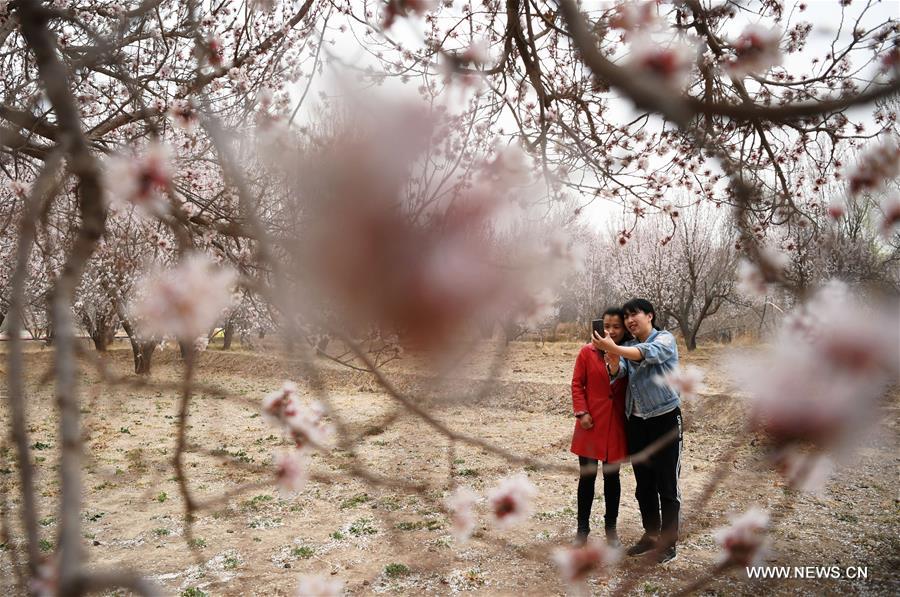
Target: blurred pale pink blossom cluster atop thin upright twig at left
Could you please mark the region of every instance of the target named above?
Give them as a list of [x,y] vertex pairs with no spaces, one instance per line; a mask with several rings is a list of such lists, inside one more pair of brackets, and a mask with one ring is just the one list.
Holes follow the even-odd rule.
[[231,305],[236,277],[234,270],[192,253],[174,268],[154,271],[138,282],[132,315],[144,335],[193,341]]

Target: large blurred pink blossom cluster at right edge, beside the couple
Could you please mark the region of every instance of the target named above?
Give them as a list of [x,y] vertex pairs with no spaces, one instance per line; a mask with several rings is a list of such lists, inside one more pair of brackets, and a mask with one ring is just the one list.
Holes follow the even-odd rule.
[[849,447],[896,375],[900,315],[831,282],[786,319],[763,354],[734,363],[749,423],[776,446]]

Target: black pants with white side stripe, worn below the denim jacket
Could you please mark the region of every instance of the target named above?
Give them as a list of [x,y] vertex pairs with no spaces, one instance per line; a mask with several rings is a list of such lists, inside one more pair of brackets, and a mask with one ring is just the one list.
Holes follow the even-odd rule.
[[[634,496],[641,510],[644,531],[660,535],[667,543],[678,540],[678,518],[681,509],[681,409],[658,417],[629,417],[628,452],[636,454],[657,439],[677,430],[677,436],[657,450],[649,460],[633,465],[637,483]],[[660,516],[662,513],[662,516]]]

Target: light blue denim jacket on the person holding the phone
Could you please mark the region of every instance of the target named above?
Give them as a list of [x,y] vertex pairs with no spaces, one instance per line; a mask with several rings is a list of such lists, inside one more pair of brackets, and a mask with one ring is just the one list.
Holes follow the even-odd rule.
[[678,392],[667,385],[657,383],[657,378],[678,366],[678,347],[675,336],[665,330],[653,330],[644,342],[629,340],[623,346],[633,346],[644,355],[643,360],[629,361],[622,358],[623,366],[615,379],[628,376],[625,393],[625,415],[655,417],[680,406]]

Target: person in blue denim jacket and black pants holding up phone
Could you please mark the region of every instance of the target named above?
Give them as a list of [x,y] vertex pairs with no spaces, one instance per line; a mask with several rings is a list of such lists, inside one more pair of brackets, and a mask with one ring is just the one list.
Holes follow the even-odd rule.
[[622,309],[625,327],[634,340],[617,346],[608,337],[595,334],[593,344],[598,350],[621,357],[618,370],[610,368],[613,381],[628,377],[625,416],[629,454],[664,442],[649,458],[632,463],[644,535],[627,553],[636,556],[655,550],[657,561],[665,563],[675,558],[678,540],[682,420],[678,393],[658,380],[678,366],[678,347],[670,332],[656,329],[656,312],[650,301],[632,299]]

